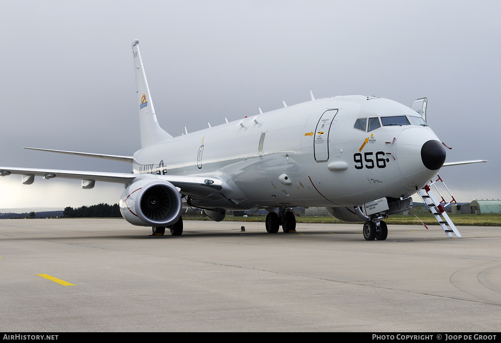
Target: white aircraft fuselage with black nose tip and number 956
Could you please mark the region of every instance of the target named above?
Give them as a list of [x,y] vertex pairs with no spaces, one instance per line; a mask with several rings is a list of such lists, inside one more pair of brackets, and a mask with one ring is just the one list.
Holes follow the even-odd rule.
[[405,105],[335,96],[147,146],[134,154],[134,172],[219,178],[220,192],[190,197],[199,207],[355,206],[410,196],[443,164],[440,148]]

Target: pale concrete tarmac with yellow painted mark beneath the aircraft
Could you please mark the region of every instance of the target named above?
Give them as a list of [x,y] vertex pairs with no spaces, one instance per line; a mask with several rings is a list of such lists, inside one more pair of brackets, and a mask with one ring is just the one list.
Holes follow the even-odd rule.
[[499,331],[501,227],[458,229],[0,220],[0,331]]

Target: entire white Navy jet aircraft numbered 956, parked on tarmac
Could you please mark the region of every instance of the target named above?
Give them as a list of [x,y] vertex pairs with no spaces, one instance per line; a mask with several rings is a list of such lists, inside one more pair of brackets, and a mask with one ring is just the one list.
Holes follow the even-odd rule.
[[411,194],[447,164],[444,144],[426,124],[425,98],[412,109],[377,96],[311,93],[308,102],[173,137],[157,122],[138,44],[141,149],[133,156],[38,149],[129,161],[133,173],[0,167],[0,174],[21,174],[24,184],[35,176],[81,179],[83,188],[123,183],[123,217],[155,235],[182,233],[184,202],[215,221],[226,210],[266,208],[271,233],[295,229],[291,207],[324,206],[338,219],[365,221],[365,239],[383,240],[381,219],[410,207]]

